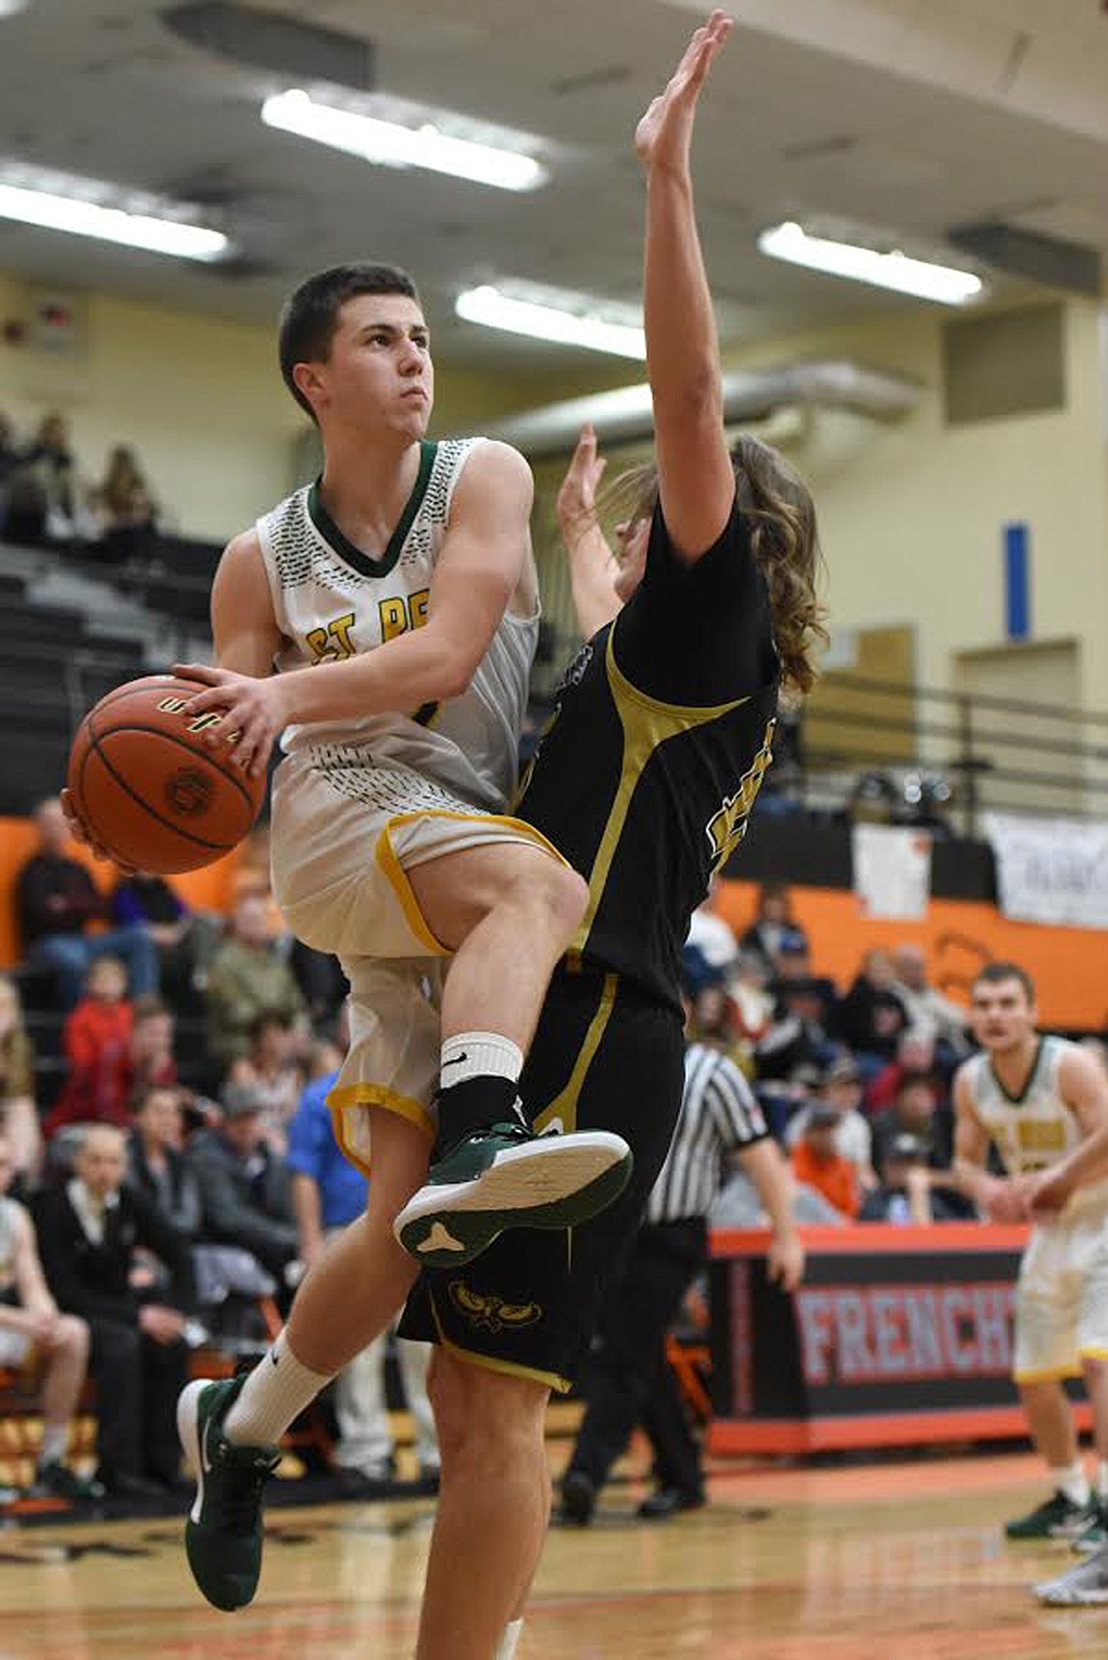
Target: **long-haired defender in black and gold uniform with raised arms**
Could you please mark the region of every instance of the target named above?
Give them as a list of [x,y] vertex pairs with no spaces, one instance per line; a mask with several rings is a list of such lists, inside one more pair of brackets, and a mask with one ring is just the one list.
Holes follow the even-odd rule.
[[590,511],[600,470],[590,433],[577,448],[561,506],[592,637],[562,681],[518,805],[589,881],[521,1092],[539,1130],[619,1130],[634,1175],[597,1220],[518,1232],[463,1268],[426,1272],[408,1301],[403,1333],[440,1345],[443,1484],[420,1660],[514,1652],[549,1517],[549,1391],[567,1386],[589,1341],[680,1107],[688,918],[741,842],[780,689],[806,692],[814,677],[813,505],[765,445],[728,450],[693,216],[693,116],[730,28],[713,12],[697,30],[635,136],[657,463],[622,481],[629,511],[612,559]]

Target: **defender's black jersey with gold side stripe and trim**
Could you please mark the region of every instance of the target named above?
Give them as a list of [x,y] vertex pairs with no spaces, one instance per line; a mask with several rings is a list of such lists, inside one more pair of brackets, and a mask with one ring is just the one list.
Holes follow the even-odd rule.
[[658,508],[644,579],[562,677],[516,807],[589,881],[586,959],[678,1003],[688,920],[743,838],[776,702],[770,598],[738,506],[695,564]]

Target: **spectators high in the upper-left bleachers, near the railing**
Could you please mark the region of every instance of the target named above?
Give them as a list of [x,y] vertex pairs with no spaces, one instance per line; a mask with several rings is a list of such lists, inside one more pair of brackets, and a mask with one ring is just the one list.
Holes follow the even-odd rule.
[[63,415],[27,435],[0,413],[0,536],[25,548],[80,541],[109,561],[146,558],[158,505],[134,450],[118,443],[90,481],[73,453]]

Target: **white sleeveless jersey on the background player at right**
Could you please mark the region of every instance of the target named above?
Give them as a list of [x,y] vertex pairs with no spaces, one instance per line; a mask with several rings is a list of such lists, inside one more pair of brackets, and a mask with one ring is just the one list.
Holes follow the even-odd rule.
[[[1081,1142],[1081,1129],[1062,1099],[1058,1067],[1073,1046],[1065,1038],[1040,1038],[1030,1077],[1020,1096],[1010,1096],[987,1054],[967,1061],[970,1102],[989,1130],[1008,1175],[1045,1170]],[[1108,1207],[1108,1182],[1096,1182],[1073,1195],[1065,1208],[1070,1217],[1090,1205]]]

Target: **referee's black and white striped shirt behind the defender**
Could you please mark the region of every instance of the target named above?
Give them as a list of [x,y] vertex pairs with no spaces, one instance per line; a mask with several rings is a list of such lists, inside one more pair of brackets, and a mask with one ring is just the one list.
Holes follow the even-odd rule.
[[647,1222],[708,1213],[725,1154],[770,1134],[753,1091],[733,1061],[693,1042],[685,1051],[685,1092],[670,1150],[647,1200]]

